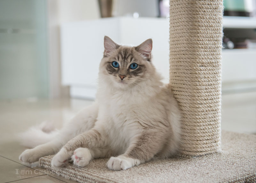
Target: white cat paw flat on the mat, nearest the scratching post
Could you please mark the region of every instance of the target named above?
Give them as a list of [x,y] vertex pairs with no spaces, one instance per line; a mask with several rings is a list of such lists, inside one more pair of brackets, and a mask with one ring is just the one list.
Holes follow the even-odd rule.
[[107,162],[107,166],[110,170],[125,170],[139,164],[140,160],[125,156],[111,157]]

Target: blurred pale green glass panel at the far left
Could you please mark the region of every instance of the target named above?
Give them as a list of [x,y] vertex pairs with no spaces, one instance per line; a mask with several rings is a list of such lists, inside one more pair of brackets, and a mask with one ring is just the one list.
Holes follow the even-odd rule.
[[0,1],[0,99],[48,97],[46,5]]

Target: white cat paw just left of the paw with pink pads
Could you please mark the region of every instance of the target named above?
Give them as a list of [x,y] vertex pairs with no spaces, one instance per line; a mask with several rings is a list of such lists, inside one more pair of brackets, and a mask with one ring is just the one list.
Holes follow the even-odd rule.
[[55,156],[53,156],[51,165],[54,168],[61,168],[62,166],[68,163],[69,159],[70,159],[69,153],[67,152],[66,149],[62,148]]

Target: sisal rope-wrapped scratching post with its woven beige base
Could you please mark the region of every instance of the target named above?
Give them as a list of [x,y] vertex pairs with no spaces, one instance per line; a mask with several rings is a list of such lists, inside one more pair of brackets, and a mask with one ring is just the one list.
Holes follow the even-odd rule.
[[170,0],[170,83],[182,110],[180,151],[189,156],[123,171],[109,170],[107,158],[55,169],[51,155],[39,165],[78,182],[255,182],[256,135],[222,132],[223,152],[213,153],[220,149],[221,22],[222,0]]

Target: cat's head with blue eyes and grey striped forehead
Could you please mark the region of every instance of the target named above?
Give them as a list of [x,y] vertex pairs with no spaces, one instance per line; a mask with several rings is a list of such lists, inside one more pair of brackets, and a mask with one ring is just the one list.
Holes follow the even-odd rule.
[[151,63],[152,39],[139,46],[118,45],[104,37],[104,56],[100,63],[100,75],[118,88],[147,83],[156,72]]

